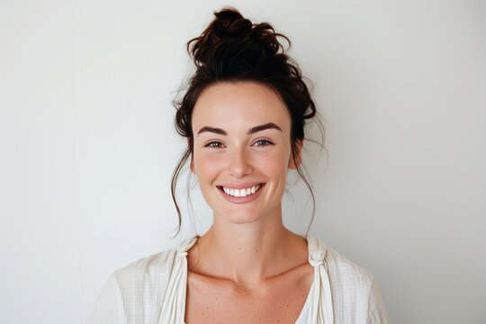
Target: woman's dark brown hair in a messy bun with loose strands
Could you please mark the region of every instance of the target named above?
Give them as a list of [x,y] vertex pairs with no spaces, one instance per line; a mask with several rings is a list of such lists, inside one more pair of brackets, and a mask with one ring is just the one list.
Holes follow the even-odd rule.
[[[274,89],[291,115],[291,147],[296,166],[301,164],[296,159],[300,158],[298,142],[304,139],[306,120],[316,117],[316,106],[302,72],[279,41],[285,40],[290,48],[291,41],[286,36],[275,32],[268,23],[251,23],[234,8],[224,8],[214,15],[216,18],[202,34],[187,43],[196,70],[182,100],[175,101],[175,128],[187,139],[187,148],[175,166],[171,182],[172,199],[179,218],[178,230],[181,211],[175,189],[181,170],[193,154],[193,108],[204,89],[219,82],[238,81],[254,81]],[[296,170],[310,189],[315,204],[311,185],[300,167]]]

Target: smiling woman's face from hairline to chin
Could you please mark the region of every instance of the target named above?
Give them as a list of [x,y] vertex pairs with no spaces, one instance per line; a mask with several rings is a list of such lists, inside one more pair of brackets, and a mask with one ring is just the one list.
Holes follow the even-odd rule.
[[281,214],[287,169],[294,168],[290,114],[266,85],[219,83],[193,110],[193,160],[214,221],[249,223]]

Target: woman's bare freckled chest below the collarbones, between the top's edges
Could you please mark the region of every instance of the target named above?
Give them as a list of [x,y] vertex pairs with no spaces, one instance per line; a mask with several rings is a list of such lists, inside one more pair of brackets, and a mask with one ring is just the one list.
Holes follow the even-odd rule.
[[294,324],[310,293],[311,268],[306,275],[287,277],[247,291],[218,281],[188,275],[186,324]]

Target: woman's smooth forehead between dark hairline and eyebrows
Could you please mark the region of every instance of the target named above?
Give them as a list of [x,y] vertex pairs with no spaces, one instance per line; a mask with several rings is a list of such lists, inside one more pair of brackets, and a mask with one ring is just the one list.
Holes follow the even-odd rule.
[[290,130],[290,113],[278,94],[257,82],[218,83],[206,88],[195,103],[193,130],[203,126],[222,129],[253,127],[274,122]]

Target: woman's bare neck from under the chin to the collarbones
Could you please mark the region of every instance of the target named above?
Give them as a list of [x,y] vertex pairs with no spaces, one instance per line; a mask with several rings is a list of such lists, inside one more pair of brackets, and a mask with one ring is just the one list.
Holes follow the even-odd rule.
[[265,226],[215,221],[198,239],[196,270],[250,288],[305,263],[305,238],[286,229],[282,217],[273,220]]

